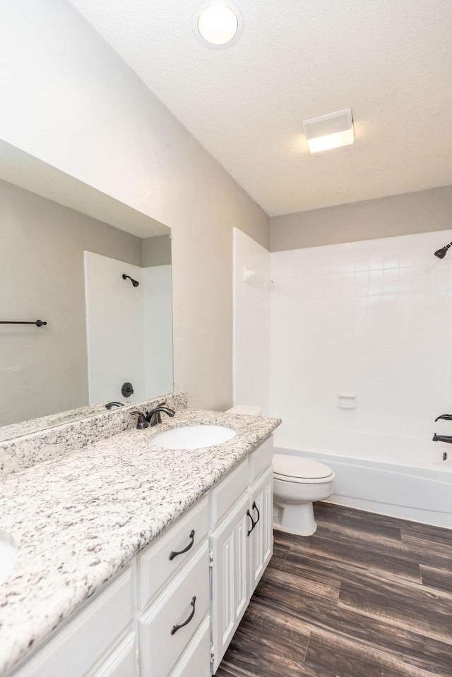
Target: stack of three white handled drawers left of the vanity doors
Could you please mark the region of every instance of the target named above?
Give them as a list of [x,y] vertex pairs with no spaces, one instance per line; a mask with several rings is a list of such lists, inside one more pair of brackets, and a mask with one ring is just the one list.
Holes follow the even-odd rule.
[[138,606],[141,677],[210,675],[208,496],[138,555]]

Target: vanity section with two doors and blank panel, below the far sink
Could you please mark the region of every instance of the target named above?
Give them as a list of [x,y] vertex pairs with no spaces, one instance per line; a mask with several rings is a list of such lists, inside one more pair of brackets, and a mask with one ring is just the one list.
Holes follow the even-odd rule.
[[[273,553],[273,438],[211,492],[210,568],[213,673]],[[227,497],[229,496],[229,505]],[[237,496],[239,498],[234,500]],[[223,510],[218,509],[222,503]],[[216,524],[213,515],[222,517]]]

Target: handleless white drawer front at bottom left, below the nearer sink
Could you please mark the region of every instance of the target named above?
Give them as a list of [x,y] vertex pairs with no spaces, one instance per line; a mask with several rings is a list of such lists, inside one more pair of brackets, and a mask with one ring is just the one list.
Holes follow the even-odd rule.
[[128,568],[90,600],[15,677],[83,677],[92,669],[132,620],[131,573]]

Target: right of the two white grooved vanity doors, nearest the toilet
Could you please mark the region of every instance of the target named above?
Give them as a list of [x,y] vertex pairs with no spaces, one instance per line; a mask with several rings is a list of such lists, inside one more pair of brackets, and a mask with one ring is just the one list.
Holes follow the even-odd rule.
[[251,597],[273,554],[273,467],[270,466],[251,486],[249,502],[249,511],[256,522],[249,537]]

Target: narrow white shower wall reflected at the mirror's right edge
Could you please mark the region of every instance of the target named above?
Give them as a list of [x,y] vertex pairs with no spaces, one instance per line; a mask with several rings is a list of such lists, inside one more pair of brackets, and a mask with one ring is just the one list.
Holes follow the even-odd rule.
[[145,381],[149,397],[172,393],[171,265],[143,268]]

